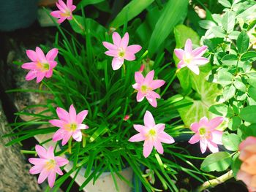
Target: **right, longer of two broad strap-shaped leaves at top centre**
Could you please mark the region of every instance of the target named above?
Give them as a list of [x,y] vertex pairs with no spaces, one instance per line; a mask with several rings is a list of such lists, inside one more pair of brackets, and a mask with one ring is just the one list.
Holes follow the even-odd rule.
[[173,31],[174,26],[184,20],[187,15],[188,3],[188,0],[167,1],[149,41],[148,53],[154,54]]

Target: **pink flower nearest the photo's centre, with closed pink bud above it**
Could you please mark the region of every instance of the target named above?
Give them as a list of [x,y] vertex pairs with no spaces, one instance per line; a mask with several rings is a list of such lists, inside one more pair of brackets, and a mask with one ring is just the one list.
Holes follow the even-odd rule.
[[153,106],[157,107],[157,99],[160,99],[158,93],[154,92],[153,90],[161,87],[165,84],[164,80],[153,80],[154,78],[154,70],[148,72],[146,77],[143,77],[141,72],[135,72],[135,81],[136,83],[132,85],[132,88],[138,90],[137,93],[137,101],[140,102],[146,96],[148,102]]

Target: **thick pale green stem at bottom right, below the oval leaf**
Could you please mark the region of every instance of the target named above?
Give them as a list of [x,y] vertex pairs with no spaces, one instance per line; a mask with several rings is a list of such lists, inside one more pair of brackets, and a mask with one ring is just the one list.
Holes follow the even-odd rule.
[[208,180],[205,183],[203,183],[203,185],[200,185],[197,188],[197,191],[203,191],[207,188],[214,188],[215,186],[224,183],[226,180],[229,180],[230,178],[234,177],[233,175],[233,171],[230,170],[229,172],[223,174],[222,176],[217,177],[214,180]]

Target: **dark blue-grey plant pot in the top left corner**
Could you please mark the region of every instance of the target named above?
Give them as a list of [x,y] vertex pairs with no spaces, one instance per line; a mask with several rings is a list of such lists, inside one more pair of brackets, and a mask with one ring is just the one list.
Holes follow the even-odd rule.
[[13,31],[30,26],[37,18],[37,1],[1,1],[0,31]]

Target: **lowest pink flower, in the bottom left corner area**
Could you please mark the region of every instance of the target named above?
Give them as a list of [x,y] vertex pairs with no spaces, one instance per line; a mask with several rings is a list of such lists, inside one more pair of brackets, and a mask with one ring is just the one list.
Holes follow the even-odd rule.
[[43,183],[48,177],[48,183],[50,188],[53,187],[56,179],[56,173],[62,175],[63,172],[60,166],[64,166],[69,163],[66,158],[54,156],[53,146],[50,146],[48,150],[44,147],[36,145],[36,151],[39,158],[29,158],[29,162],[34,164],[29,170],[31,174],[39,174],[37,183]]

